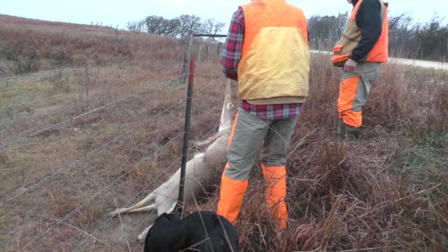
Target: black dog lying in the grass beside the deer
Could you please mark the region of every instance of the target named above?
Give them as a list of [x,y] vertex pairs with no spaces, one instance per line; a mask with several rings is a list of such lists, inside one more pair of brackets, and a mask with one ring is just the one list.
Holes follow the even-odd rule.
[[237,252],[238,235],[223,216],[200,211],[181,219],[162,214],[148,231],[145,252],[214,251]]

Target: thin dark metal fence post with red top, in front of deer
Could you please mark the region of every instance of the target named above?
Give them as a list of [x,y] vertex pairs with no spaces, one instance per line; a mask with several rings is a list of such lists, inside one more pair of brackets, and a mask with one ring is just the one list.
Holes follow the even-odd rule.
[[195,78],[195,59],[190,58],[190,75],[188,76],[188,91],[187,91],[187,108],[185,113],[185,127],[183,132],[183,150],[181,162],[181,181],[179,184],[179,200],[178,207],[183,208],[183,189],[185,186],[185,174],[188,155],[188,136],[190,135],[190,117],[191,117],[191,102],[193,100],[193,82]]

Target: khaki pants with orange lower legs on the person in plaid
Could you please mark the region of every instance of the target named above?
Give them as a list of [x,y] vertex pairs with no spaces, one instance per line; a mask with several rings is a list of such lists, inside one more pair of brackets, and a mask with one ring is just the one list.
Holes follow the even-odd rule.
[[262,120],[239,108],[229,140],[228,164],[221,181],[218,214],[235,223],[248,186],[248,175],[260,148],[267,181],[266,201],[272,216],[286,228],[286,149],[298,116]]

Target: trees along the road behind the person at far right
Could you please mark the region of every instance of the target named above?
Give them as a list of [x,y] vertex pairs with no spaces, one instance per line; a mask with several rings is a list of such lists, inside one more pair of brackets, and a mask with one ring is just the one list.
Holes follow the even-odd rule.
[[[349,13],[311,16],[308,20],[311,48],[331,50],[344,31],[348,18]],[[447,22],[436,14],[429,22],[417,22],[411,13],[389,17],[389,55],[447,62]]]

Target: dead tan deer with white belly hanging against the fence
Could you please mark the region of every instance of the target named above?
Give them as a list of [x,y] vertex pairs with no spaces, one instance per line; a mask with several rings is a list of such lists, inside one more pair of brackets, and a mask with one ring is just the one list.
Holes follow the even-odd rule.
[[[186,179],[184,186],[184,201],[194,202],[195,197],[200,196],[213,189],[219,183],[225,163],[227,162],[228,141],[232,131],[232,99],[230,80],[225,83],[225,96],[223,111],[218,133],[213,137],[195,144],[197,147],[209,147],[195,158],[189,160],[186,165]],[[181,169],[165,183],[153,190],[148,196],[132,207],[116,209],[109,216],[119,214],[148,212],[157,209],[158,216],[170,214],[176,206],[179,197],[179,182],[181,179]],[[137,239],[144,242],[150,227],[146,228]]]

